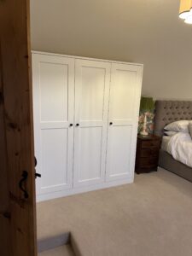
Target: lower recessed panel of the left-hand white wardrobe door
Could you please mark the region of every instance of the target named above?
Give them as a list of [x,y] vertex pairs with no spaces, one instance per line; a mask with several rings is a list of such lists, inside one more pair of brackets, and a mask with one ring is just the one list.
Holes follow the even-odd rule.
[[67,129],[44,129],[42,137],[42,187],[55,191],[67,185]]

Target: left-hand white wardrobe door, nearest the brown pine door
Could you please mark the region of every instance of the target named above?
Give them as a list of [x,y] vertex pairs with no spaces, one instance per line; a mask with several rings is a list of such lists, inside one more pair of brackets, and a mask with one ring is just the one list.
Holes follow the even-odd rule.
[[[72,187],[74,60],[32,55],[37,194]],[[48,197],[49,198],[49,197]]]

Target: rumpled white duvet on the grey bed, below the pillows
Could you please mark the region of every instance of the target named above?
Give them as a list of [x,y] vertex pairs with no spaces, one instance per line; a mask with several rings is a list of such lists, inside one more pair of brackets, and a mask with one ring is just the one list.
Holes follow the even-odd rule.
[[175,160],[192,167],[192,139],[187,132],[177,132],[167,144],[166,151],[172,154]]

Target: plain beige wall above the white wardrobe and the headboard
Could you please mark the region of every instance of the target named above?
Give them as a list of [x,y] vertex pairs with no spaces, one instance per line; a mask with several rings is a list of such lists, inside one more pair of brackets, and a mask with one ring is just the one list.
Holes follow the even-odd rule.
[[143,95],[192,99],[179,0],[31,0],[32,49],[144,64]]

